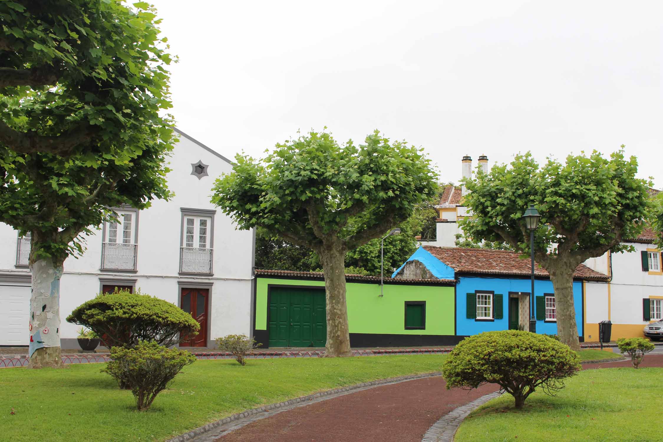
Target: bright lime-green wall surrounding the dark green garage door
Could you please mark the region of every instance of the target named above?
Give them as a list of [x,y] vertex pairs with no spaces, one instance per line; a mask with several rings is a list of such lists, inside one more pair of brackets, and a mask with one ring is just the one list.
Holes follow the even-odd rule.
[[[318,286],[324,281],[256,279],[255,328],[267,330],[267,286]],[[394,333],[398,335],[453,335],[453,287],[385,284],[380,298],[379,284],[346,284],[347,317],[350,333]],[[426,301],[426,329],[405,329],[405,302]]]

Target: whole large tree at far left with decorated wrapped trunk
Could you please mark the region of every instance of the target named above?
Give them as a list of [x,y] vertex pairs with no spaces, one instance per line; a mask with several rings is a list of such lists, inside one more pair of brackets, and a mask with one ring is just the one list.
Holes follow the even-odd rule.
[[154,9],[134,6],[0,2],[0,221],[32,233],[31,366],[62,364],[60,278],[79,235],[109,207],[170,197],[171,57]]

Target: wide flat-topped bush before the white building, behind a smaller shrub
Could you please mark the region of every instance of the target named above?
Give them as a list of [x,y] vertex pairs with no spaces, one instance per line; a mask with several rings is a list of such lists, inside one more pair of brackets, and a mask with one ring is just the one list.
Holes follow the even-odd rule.
[[97,295],[74,309],[67,321],[88,327],[106,347],[131,348],[139,341],[170,347],[200,330],[198,321],[177,305],[128,290]]

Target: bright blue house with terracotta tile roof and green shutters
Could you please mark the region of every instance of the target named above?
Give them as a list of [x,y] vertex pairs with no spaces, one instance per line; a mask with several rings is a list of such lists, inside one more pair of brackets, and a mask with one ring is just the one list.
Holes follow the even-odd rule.
[[[392,278],[455,279],[455,335],[525,329],[530,321],[530,260],[507,250],[422,246]],[[557,333],[555,292],[546,270],[534,270],[536,333]],[[579,338],[583,340],[583,281],[607,281],[608,276],[581,264],[573,278],[573,305]]]

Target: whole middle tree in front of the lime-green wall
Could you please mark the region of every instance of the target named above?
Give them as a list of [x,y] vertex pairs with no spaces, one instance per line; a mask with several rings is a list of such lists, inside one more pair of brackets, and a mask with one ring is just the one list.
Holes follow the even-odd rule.
[[212,202],[239,229],[272,235],[320,256],[327,292],[326,354],[347,356],[345,254],[408,219],[436,189],[422,150],[375,131],[340,146],[330,133],[276,144],[263,161],[238,155],[215,183]]

